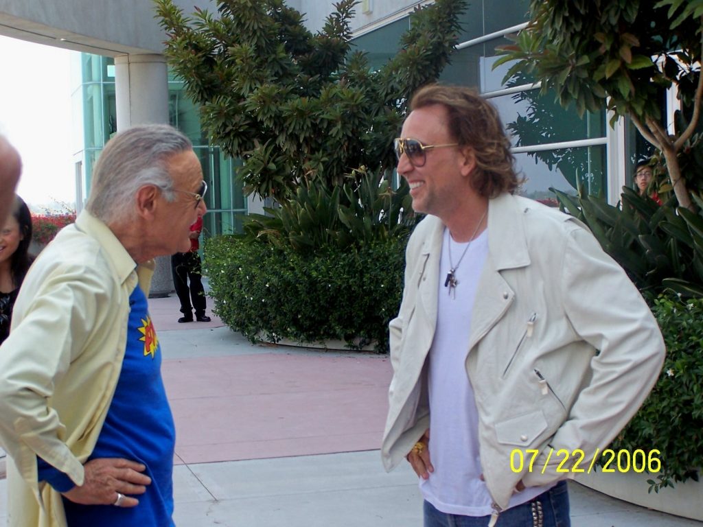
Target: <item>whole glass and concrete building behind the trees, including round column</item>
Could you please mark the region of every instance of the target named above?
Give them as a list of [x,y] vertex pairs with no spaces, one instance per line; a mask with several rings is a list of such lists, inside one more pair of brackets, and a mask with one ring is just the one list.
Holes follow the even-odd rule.
[[[399,47],[413,11],[430,1],[362,0],[352,20],[354,45],[369,54],[376,67]],[[198,8],[216,11],[210,0],[176,0],[186,13]],[[316,32],[333,11],[333,0],[289,0],[306,13],[307,27]],[[550,200],[549,188],[575,192],[585,188],[608,201],[619,200],[621,186],[630,183],[633,165],[647,147],[624,120],[607,126],[605,110],[579,118],[563,109],[550,94],[524,75],[504,79],[508,65],[494,70],[496,46],[526,25],[528,0],[472,0],[461,19],[463,30],[452,64],[441,81],[477,89],[498,108],[510,134],[517,168],[526,178],[524,193]],[[153,16],[151,2],[134,2],[129,9],[110,0],[67,0],[61,9],[40,0],[0,0],[0,34],[40,44],[91,53],[77,65],[75,112],[82,131],[77,134],[77,201],[90,187],[92,166],[110,134],[142,122],[171,122],[195,144],[212,192],[207,230],[212,234],[238,229],[240,212],[262,212],[262,203],[245,198],[231,178],[231,161],[207,144],[197,111],[183,97],[182,86],[169,76],[162,55],[165,34]],[[672,94],[665,105],[673,108]],[[670,113],[671,115],[671,113]],[[79,127],[80,128],[80,127]]]

